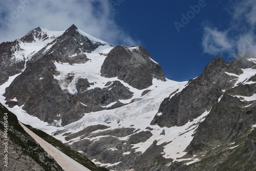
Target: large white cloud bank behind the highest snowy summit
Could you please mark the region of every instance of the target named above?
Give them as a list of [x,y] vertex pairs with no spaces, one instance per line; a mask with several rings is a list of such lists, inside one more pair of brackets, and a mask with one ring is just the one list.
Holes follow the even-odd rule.
[[111,1],[0,1],[0,15],[1,42],[21,38],[37,27],[62,31],[74,23],[84,32],[113,45],[140,43],[117,25]]

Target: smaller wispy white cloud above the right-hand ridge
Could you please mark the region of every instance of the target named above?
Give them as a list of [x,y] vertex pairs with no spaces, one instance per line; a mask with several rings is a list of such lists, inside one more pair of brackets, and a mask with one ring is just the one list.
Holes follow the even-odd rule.
[[237,55],[256,56],[256,1],[245,0],[233,3],[228,9],[231,20],[226,30],[204,26],[202,46],[204,53],[214,56],[236,58]]

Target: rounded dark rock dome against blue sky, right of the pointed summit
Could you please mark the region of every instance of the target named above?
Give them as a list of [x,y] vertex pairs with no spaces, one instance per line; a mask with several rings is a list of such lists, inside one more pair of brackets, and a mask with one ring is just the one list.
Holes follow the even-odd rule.
[[151,86],[153,78],[165,81],[161,65],[153,62],[142,46],[114,47],[106,57],[100,72],[103,77],[117,77],[137,89]]

